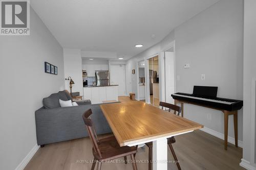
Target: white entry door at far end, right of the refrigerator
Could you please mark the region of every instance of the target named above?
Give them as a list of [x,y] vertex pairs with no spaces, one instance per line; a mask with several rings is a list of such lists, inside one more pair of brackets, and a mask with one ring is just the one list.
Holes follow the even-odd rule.
[[125,68],[124,65],[110,66],[110,84],[118,85],[118,96],[125,95]]

